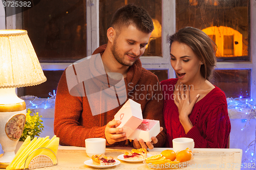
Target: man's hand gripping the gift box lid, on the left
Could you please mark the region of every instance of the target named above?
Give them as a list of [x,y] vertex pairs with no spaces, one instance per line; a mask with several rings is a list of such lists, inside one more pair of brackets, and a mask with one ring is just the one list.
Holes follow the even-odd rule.
[[113,144],[115,142],[126,140],[125,133],[121,133],[123,131],[122,128],[116,128],[116,126],[120,125],[121,122],[119,120],[110,121],[105,127],[105,137],[106,141],[109,144]]

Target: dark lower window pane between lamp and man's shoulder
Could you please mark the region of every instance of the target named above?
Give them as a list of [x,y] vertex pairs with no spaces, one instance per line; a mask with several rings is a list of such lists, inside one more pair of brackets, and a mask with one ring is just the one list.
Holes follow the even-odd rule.
[[59,79],[64,70],[56,70],[56,71],[46,71],[44,70],[44,74],[47,78],[47,81],[36,85],[36,86],[28,86],[28,87],[20,87],[18,88],[18,96],[25,95],[34,95],[38,98],[50,98],[49,92],[53,94],[53,90],[57,90]]

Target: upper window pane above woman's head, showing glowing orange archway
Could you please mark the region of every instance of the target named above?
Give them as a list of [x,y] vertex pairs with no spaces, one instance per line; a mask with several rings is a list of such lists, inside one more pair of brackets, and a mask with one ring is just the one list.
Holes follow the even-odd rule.
[[176,28],[187,26],[217,44],[218,61],[249,60],[247,0],[176,0]]

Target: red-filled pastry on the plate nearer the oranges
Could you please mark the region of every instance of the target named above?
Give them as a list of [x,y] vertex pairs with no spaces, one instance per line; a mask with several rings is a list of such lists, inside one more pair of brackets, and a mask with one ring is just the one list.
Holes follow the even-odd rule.
[[125,152],[123,158],[126,160],[144,160],[146,158],[146,149],[132,149],[132,152]]

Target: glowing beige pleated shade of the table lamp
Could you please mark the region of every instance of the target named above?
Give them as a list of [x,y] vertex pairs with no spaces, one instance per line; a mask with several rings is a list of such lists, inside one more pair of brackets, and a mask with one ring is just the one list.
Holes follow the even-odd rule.
[[0,88],[41,84],[46,77],[26,30],[0,30]]

